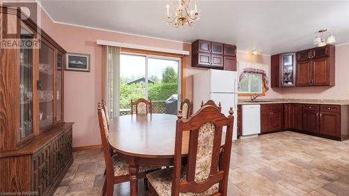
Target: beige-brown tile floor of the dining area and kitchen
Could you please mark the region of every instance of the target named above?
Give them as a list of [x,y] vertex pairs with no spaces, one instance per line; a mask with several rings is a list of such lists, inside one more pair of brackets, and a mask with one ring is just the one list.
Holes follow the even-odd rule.
[[[74,153],[54,195],[100,195],[101,150]],[[286,131],[232,145],[228,195],[349,195],[349,140],[337,142]],[[128,183],[114,195],[129,195]],[[142,181],[140,195],[147,195]]]

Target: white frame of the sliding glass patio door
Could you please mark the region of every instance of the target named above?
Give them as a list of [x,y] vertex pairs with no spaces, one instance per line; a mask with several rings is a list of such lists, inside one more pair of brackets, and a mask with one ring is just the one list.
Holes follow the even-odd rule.
[[[145,99],[148,99],[148,59],[163,59],[163,60],[172,60],[178,61],[178,107],[181,105],[181,58],[171,57],[171,56],[161,56],[161,55],[152,55],[152,54],[139,54],[135,52],[120,52],[122,54],[135,55],[135,56],[144,56],[145,57]],[[120,77],[121,79],[121,77]]]

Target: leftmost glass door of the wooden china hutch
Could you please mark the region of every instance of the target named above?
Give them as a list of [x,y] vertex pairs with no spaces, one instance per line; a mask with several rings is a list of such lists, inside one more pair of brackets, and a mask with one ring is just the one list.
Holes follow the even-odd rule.
[[[33,40],[34,35],[27,27],[21,27],[21,43]],[[20,48],[20,138],[33,133],[33,55],[32,47]]]

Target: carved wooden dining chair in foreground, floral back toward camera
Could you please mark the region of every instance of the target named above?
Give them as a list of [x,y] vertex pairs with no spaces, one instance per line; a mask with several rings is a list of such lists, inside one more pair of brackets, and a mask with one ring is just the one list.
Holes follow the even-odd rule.
[[[183,119],[179,112],[174,144],[174,167],[147,174],[149,188],[155,195],[227,195],[234,121],[232,107],[229,114],[225,117],[211,105],[201,107],[189,119]],[[223,126],[226,126],[223,163],[218,167]],[[185,131],[189,131],[190,135],[187,165],[182,166],[181,152]]]

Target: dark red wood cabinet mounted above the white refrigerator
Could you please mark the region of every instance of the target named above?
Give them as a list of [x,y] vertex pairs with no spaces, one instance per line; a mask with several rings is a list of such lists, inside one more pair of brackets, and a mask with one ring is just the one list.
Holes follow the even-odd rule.
[[196,40],[191,49],[193,67],[237,70],[235,45]]

